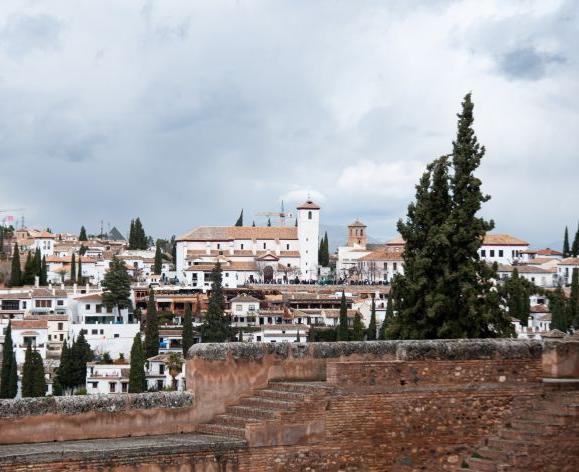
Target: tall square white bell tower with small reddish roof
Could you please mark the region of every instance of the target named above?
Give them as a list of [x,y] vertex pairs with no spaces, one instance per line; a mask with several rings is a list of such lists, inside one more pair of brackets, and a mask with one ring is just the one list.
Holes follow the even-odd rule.
[[309,197],[298,205],[298,240],[300,245],[300,279],[318,279],[320,207]]

